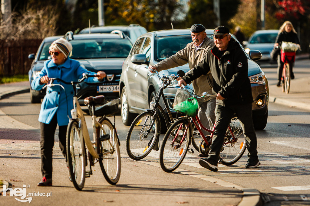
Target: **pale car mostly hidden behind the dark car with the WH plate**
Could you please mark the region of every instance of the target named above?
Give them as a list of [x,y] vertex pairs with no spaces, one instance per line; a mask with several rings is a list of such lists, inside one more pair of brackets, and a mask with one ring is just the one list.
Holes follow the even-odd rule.
[[[139,24],[130,24],[129,26],[101,26],[101,27],[91,27],[91,33],[110,33],[114,30],[120,30],[124,32],[129,38],[135,42],[135,40],[141,35],[148,32],[144,27]],[[84,28],[80,34],[89,34],[89,28]]]

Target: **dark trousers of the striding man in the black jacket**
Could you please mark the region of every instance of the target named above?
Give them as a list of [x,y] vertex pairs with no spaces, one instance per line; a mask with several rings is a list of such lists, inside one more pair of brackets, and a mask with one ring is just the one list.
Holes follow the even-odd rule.
[[210,146],[209,158],[219,161],[220,150],[224,143],[224,136],[233,114],[239,118],[243,134],[246,139],[248,157],[257,159],[257,137],[252,120],[252,103],[244,105],[222,106],[216,105],[215,132]]

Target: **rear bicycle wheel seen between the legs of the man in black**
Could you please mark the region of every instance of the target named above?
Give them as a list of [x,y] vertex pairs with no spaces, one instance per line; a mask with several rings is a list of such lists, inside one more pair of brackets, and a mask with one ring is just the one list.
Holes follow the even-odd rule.
[[231,132],[227,129],[224,144],[220,153],[221,164],[229,166],[235,164],[246,151],[246,141],[242,132],[240,121],[233,117],[230,128],[234,134],[235,140],[232,139]]

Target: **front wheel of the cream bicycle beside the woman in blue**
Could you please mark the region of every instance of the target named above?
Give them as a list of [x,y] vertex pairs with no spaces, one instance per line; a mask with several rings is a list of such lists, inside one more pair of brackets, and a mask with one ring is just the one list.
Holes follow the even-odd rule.
[[74,187],[82,190],[85,183],[86,153],[83,136],[80,135],[78,122],[71,120],[66,138],[67,161]]

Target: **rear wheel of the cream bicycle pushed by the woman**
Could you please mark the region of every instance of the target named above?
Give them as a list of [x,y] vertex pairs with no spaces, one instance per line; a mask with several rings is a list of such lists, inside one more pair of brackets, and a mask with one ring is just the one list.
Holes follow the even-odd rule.
[[118,145],[116,129],[107,118],[100,119],[99,123],[101,124],[100,136],[105,134],[110,135],[110,139],[101,141],[100,150],[101,152],[112,152],[105,155],[100,154],[101,157],[98,161],[104,178],[109,184],[115,185],[121,176],[121,152]]

